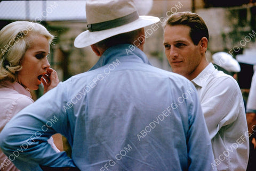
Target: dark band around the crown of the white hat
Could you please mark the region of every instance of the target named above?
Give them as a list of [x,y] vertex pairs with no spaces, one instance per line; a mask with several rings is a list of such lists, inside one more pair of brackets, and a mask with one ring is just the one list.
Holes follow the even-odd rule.
[[87,24],[87,29],[91,32],[93,31],[101,31],[101,30],[107,30],[112,29],[115,27],[119,27],[124,24],[128,24],[130,22],[133,22],[135,20],[139,19],[139,15],[137,11],[134,11],[133,13],[129,15],[122,16],[121,18],[109,20],[105,22],[95,23],[95,24]]

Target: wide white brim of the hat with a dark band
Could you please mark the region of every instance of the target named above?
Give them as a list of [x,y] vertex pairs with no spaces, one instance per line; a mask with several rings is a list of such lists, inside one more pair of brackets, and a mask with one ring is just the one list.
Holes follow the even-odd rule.
[[157,23],[158,21],[159,18],[155,16],[142,15],[139,16],[139,19],[116,28],[93,32],[86,30],[76,37],[74,45],[77,48],[83,48],[86,46],[93,45],[109,37],[146,27],[148,25]]

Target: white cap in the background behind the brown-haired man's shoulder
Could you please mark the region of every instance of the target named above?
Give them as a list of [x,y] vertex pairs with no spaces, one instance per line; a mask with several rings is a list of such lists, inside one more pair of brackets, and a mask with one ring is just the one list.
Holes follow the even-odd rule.
[[213,63],[221,66],[229,72],[240,72],[239,63],[230,54],[226,52],[217,52],[212,55]]

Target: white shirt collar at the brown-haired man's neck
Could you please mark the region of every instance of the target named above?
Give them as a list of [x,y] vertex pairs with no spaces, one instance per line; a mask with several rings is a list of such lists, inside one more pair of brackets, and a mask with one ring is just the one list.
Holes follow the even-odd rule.
[[199,73],[196,78],[194,78],[191,82],[195,85],[195,86],[199,86],[199,87],[204,87],[206,84],[206,81],[209,79],[210,75],[213,73],[213,71],[215,70],[215,67],[213,66],[212,63],[209,63],[205,69]]

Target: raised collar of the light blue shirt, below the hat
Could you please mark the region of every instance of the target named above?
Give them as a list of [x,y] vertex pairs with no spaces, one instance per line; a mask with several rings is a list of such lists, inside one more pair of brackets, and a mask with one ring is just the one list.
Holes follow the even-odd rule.
[[140,62],[151,65],[145,53],[139,48],[130,44],[121,44],[108,48],[89,71],[98,69],[108,63],[116,62],[117,60],[121,63]]

